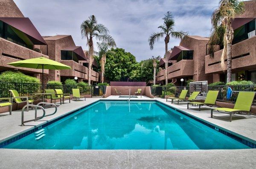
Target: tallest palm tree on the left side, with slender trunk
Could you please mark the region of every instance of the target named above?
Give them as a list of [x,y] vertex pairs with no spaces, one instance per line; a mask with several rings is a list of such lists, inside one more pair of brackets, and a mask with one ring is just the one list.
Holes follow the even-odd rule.
[[85,20],[81,26],[82,38],[86,38],[87,45],[89,46],[89,62],[88,62],[88,84],[90,84],[91,67],[93,61],[93,39],[97,39],[101,42],[111,42],[113,38],[108,35],[108,28],[97,22],[94,15],[91,15]]

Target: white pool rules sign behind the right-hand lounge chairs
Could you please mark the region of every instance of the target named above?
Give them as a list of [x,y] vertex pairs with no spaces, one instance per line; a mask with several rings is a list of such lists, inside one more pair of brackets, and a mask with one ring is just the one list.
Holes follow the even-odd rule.
[[199,95],[196,99],[205,99],[207,95],[207,81],[201,81],[201,82],[190,82],[189,85],[189,91],[190,94],[192,94],[194,91],[199,91]]

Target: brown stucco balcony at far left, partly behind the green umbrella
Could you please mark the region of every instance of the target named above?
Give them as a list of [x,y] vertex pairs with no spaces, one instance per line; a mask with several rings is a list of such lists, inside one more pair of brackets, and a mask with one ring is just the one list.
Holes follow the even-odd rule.
[[[7,65],[7,63],[10,62],[17,62],[20,60],[32,59],[41,56],[49,58],[47,55],[40,54],[29,48],[25,48],[21,45],[0,38],[0,69],[2,70],[18,69],[25,70],[28,73],[42,73],[41,69],[21,68]],[[49,71],[46,69],[44,70],[44,73],[48,74]]]

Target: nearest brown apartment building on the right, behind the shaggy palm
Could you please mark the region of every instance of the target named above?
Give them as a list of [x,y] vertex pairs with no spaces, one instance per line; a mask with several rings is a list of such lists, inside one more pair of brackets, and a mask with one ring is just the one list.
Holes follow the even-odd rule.
[[[244,1],[244,8],[244,13],[236,16],[232,23],[232,81],[256,82],[256,0]],[[213,82],[225,82],[227,79],[227,68],[223,70],[220,65],[221,53],[220,48],[213,58],[205,56],[205,73],[212,75]]]

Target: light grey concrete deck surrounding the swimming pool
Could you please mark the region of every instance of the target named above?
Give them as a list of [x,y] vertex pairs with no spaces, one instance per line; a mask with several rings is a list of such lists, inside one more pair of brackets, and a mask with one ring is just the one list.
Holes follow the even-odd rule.
[[[65,101],[58,105],[55,115],[45,117],[39,121],[26,123],[20,126],[21,111],[0,114],[0,142],[25,132],[41,124],[65,115],[72,110],[98,100],[127,100],[118,96],[108,98],[87,98],[86,101]],[[184,112],[201,118],[204,121],[220,128],[237,133],[256,143],[256,118],[233,118],[232,122],[219,118],[210,118],[210,110],[186,109],[186,104],[171,104],[166,99],[132,98],[131,100],[158,100]],[[72,105],[72,106],[71,106]],[[47,108],[46,114],[54,111]],[[38,110],[38,115],[42,111]],[[220,113],[219,113],[220,114]],[[217,115],[217,114],[216,114]],[[224,115],[224,114],[220,114]],[[34,110],[25,112],[25,120],[34,117]],[[250,118],[248,118],[250,117]],[[0,168],[253,168],[256,165],[256,149],[237,150],[22,150],[0,149],[2,158]],[[43,157],[43,158],[42,158]]]

